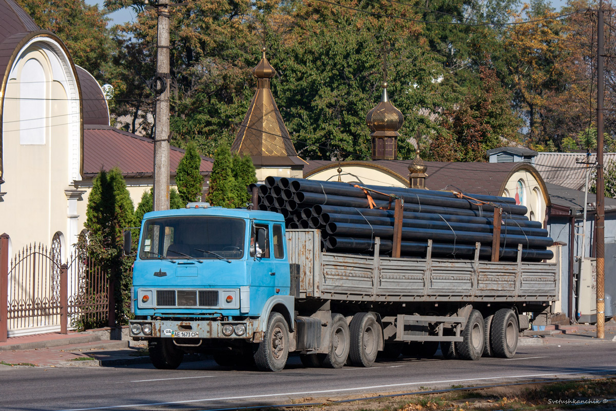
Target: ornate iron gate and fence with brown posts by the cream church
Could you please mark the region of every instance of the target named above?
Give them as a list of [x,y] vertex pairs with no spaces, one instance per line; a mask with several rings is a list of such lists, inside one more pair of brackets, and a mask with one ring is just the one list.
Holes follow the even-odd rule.
[[8,240],[0,238],[0,341],[8,332],[66,333],[108,324],[110,281],[83,243],[62,263],[53,243],[25,246],[9,260]]

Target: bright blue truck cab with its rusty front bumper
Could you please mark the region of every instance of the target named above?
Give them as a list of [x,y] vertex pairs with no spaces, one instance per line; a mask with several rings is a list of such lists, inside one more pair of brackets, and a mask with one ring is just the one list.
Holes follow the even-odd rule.
[[[148,341],[158,368],[176,368],[186,352],[254,356],[272,317],[293,332],[290,278],[281,214],[207,203],[147,213],[132,274],[130,335]],[[276,348],[269,341],[265,357],[275,360]]]

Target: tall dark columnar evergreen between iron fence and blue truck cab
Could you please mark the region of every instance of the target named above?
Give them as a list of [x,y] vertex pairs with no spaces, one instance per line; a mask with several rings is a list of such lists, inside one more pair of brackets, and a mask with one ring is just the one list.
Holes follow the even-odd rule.
[[123,229],[136,224],[134,206],[119,168],[100,171],[87,201],[88,251],[114,285],[116,324],[128,324],[131,315],[131,265],[124,256]]

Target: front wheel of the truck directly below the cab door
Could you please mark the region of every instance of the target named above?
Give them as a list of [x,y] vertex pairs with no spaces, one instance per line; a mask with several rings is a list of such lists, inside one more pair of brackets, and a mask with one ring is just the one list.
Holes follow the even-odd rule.
[[261,371],[282,371],[289,357],[289,327],[285,317],[272,312],[267,320],[263,341],[254,353],[254,364]]

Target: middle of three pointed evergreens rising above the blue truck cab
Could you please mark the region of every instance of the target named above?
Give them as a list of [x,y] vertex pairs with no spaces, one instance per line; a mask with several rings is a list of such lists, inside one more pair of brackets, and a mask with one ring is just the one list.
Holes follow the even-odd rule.
[[222,142],[214,153],[214,164],[209,177],[207,200],[213,206],[235,208],[237,192],[233,179],[233,156],[229,145]]

